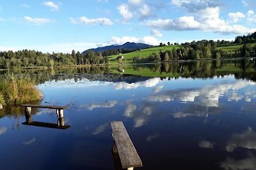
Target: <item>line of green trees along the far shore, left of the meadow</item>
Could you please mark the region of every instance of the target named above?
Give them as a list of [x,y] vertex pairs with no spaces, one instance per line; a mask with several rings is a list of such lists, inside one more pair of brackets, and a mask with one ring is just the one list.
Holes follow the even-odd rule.
[[35,50],[12,50],[0,52],[0,69],[11,69],[15,67],[36,67],[36,66],[74,66],[85,64],[108,64],[108,57],[101,53],[88,51],[83,53],[42,53]]

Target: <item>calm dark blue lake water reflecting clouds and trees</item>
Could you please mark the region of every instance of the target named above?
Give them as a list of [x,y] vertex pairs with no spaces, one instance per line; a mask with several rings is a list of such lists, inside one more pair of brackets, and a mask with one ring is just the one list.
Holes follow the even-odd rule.
[[[23,125],[22,109],[2,110],[1,169],[115,169],[109,125],[115,120],[124,122],[141,157],[136,169],[256,169],[255,61],[197,65],[123,66],[118,75],[102,73],[120,68],[30,71],[44,94],[41,104],[69,106],[70,128]],[[153,76],[124,76],[126,70]],[[38,109],[33,120],[58,118]]]

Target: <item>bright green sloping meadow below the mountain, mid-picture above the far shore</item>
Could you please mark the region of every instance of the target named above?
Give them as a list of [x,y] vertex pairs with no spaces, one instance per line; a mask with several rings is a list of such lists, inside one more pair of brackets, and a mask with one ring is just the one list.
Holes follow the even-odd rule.
[[[163,51],[172,50],[173,47],[179,48],[180,45],[170,45],[170,46],[161,46],[161,47],[157,46],[157,47],[153,47],[153,48],[137,50],[137,51],[131,52],[131,53],[123,53],[123,54],[121,54],[122,56],[124,56],[122,63],[123,64],[132,64],[133,57],[137,57],[140,55],[141,57],[144,57],[146,59],[153,52],[159,53],[161,50],[163,50]],[[109,56],[109,64],[117,64],[116,57],[118,57],[118,56],[120,56],[120,54]]]

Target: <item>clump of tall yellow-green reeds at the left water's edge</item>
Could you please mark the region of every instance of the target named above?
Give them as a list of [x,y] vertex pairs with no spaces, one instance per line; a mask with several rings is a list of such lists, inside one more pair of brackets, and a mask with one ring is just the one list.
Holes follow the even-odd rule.
[[8,105],[19,105],[24,103],[35,103],[42,99],[40,90],[36,89],[35,81],[26,76],[6,76],[1,87],[2,98],[0,103]]

